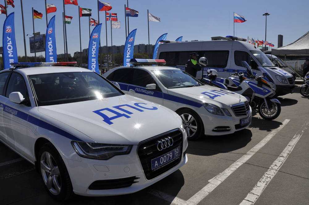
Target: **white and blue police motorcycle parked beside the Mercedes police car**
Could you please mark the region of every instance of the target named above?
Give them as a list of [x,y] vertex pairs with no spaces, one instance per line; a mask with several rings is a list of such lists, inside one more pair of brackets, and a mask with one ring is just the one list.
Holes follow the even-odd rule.
[[[204,64],[206,62],[207,60],[201,59],[200,64],[206,66]],[[263,119],[276,119],[281,112],[281,103],[272,98],[276,94],[276,86],[273,84],[272,77],[261,67],[259,69],[263,72],[263,76],[256,77],[246,61],[242,61],[242,65],[247,68],[246,73],[234,73],[225,79],[217,78],[217,71],[210,69],[207,72],[209,79],[203,78],[202,82],[241,94],[247,98],[252,108],[258,109]],[[236,86],[229,86],[229,84]]]

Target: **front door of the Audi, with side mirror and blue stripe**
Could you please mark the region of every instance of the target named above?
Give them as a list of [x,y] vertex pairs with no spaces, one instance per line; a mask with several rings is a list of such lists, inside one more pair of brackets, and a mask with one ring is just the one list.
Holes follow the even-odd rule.
[[[9,100],[12,92],[20,92],[24,103],[17,104]],[[3,110],[3,123],[9,146],[25,157],[31,157],[32,140],[27,135],[28,113],[31,109],[29,95],[23,76],[13,72],[6,86],[6,102]]]

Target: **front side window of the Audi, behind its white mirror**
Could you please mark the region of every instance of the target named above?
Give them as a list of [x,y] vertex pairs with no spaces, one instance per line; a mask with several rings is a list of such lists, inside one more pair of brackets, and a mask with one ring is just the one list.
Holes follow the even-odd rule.
[[10,80],[9,80],[9,83],[7,85],[5,96],[9,97],[9,95],[12,92],[20,92],[23,95],[24,98],[28,98],[25,80],[18,73],[12,73]]

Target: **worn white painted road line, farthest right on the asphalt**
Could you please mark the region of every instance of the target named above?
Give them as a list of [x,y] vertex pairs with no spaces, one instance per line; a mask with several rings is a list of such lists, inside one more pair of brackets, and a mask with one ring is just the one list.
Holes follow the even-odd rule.
[[279,157],[270,165],[267,172],[264,173],[263,177],[257,184],[253,187],[253,189],[248,193],[245,199],[239,205],[252,205],[256,202],[256,200],[260,197],[262,192],[265,190],[269,182],[273,179],[273,177],[277,174],[278,170],[281,168],[283,163],[289,157],[290,153],[294,149],[296,143],[303,135],[305,130],[307,129],[309,123],[304,123],[301,129],[296,132],[292,140],[286,146],[286,148],[282,151]]

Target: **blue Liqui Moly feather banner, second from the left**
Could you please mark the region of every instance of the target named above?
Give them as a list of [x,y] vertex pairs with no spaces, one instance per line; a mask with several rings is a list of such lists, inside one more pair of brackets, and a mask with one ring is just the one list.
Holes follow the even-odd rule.
[[45,61],[46,62],[57,62],[55,15],[50,19],[47,29],[46,29]]

